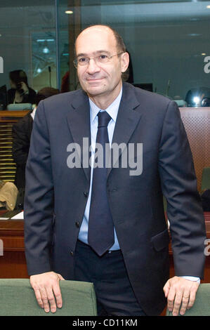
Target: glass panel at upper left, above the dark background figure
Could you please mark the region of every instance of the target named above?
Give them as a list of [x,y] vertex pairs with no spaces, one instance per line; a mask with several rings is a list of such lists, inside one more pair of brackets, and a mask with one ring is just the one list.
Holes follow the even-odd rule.
[[57,87],[55,0],[0,1],[0,56],[0,88],[11,88],[9,73],[14,70],[23,70],[36,92]]

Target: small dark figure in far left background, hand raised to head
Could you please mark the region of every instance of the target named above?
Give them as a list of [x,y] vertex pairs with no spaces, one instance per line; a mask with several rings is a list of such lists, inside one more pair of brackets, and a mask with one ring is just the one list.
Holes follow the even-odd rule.
[[8,104],[31,103],[36,100],[36,92],[28,86],[27,75],[23,70],[15,70],[9,73],[11,89],[8,90]]

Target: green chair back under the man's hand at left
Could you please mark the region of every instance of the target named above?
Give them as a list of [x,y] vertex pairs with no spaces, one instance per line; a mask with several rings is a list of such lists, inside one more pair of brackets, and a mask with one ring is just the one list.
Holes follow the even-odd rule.
[[29,279],[0,279],[1,316],[96,316],[93,283],[60,281],[63,307],[55,313],[40,308]]

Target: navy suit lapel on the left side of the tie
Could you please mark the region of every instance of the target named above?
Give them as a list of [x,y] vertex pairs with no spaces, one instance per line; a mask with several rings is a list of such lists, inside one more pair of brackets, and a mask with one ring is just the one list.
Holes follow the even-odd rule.
[[[81,161],[81,166],[84,169],[86,179],[89,182],[91,170],[90,166],[87,164],[87,160],[91,157],[91,152],[89,152],[91,145],[91,126],[90,105],[86,93],[81,91],[81,93],[75,95],[71,107],[72,109],[67,115],[67,123],[72,133],[74,143],[77,143],[80,147],[80,152],[78,152],[78,154]],[[86,138],[86,141],[88,139],[88,143],[85,148],[84,138]]]

